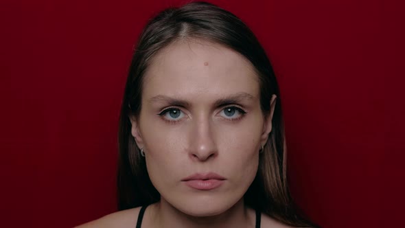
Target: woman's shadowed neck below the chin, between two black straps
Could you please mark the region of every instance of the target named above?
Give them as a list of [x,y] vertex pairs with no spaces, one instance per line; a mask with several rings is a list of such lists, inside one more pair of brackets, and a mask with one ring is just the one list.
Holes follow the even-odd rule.
[[214,216],[189,216],[167,203],[163,198],[158,203],[151,205],[150,210],[152,212],[151,227],[255,227],[255,212],[244,207],[243,198],[227,211]]

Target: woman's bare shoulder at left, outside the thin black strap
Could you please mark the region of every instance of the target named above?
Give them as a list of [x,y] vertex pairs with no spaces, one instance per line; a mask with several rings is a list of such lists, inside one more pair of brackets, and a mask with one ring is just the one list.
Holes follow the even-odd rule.
[[132,209],[126,209],[124,211],[115,212],[113,214],[108,214],[97,220],[93,220],[89,223],[84,223],[76,228],[127,228],[135,227],[137,225],[137,219],[139,210],[141,207],[135,207]]

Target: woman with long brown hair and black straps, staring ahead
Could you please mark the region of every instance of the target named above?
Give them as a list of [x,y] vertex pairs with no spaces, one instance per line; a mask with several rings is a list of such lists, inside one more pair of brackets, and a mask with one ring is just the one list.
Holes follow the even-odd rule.
[[314,227],[286,180],[279,89],[251,30],[209,3],[164,10],[130,66],[119,212],[83,227]]

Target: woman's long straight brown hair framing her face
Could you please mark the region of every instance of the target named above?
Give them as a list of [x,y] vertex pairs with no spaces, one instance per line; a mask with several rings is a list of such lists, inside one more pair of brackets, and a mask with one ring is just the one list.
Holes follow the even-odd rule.
[[130,65],[119,119],[119,209],[149,205],[160,200],[160,194],[148,176],[145,160],[131,135],[129,117],[136,117],[141,110],[143,74],[150,60],[163,47],[184,38],[218,43],[248,59],[259,77],[260,104],[264,114],[270,111],[272,95],[277,95],[273,130],[260,154],[259,169],[244,195],[244,202],[246,206],[259,209],[282,223],[314,227],[297,214],[288,191],[281,102],[273,67],[253,32],[237,16],[204,2],[163,10],[149,21],[141,33]]

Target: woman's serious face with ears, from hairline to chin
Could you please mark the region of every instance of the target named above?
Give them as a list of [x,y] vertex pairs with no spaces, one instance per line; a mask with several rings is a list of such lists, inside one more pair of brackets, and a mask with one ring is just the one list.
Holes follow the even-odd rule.
[[178,41],[144,77],[132,135],[154,187],[185,214],[226,211],[255,178],[271,130],[273,112],[265,118],[260,109],[253,66],[227,47]]

